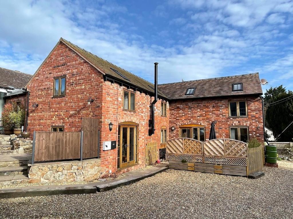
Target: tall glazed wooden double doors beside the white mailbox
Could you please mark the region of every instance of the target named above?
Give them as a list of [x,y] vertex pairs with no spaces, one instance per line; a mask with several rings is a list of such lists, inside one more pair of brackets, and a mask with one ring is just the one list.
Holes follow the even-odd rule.
[[135,164],[137,126],[120,126],[120,168]]

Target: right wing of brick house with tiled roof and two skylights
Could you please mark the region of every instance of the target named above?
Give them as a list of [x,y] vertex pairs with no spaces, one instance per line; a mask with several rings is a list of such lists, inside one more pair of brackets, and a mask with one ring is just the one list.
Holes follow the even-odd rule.
[[263,141],[262,88],[258,73],[160,84],[169,98],[170,138],[217,138]]

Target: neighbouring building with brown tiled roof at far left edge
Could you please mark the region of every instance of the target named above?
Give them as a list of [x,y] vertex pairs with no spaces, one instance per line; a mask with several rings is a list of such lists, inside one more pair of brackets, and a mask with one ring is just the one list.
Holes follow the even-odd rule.
[[22,88],[31,77],[31,74],[0,67],[0,131],[3,130],[1,115],[5,102],[13,98],[17,103],[25,105],[26,95]]

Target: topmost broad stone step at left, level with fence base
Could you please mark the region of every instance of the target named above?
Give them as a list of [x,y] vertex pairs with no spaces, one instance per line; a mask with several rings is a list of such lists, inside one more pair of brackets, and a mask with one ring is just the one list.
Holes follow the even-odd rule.
[[0,155],[0,167],[25,166],[32,154],[4,154]]

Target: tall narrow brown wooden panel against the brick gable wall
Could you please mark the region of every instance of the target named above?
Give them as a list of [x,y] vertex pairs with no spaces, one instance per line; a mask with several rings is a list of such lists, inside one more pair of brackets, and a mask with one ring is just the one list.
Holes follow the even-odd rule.
[[83,131],[82,159],[99,156],[99,119],[82,118]]

